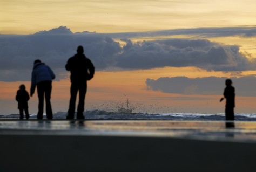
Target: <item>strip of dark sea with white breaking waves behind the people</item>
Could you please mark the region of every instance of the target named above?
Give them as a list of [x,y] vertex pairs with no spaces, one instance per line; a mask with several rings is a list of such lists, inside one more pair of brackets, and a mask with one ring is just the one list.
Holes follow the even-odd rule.
[[[44,114],[45,116],[45,114]],[[118,113],[102,110],[84,112],[87,120],[199,120],[199,121],[224,121],[225,114],[201,114],[201,113]],[[36,119],[36,114],[30,114],[30,119]],[[53,119],[65,119],[66,112],[53,114]],[[0,115],[0,119],[19,119],[19,114]],[[46,116],[44,117],[46,119]],[[256,121],[256,114],[235,114],[235,121]]]

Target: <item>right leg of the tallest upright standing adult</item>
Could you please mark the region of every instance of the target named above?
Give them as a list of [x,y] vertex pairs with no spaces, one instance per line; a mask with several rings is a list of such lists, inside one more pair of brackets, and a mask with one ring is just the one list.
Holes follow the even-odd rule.
[[84,102],[85,102],[85,94],[87,91],[87,84],[81,84],[79,86],[79,103],[77,106],[77,119],[84,119]]

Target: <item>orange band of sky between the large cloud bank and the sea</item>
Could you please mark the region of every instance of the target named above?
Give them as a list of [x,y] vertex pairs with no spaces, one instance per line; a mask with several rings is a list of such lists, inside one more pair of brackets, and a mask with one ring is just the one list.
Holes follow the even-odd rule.
[[[173,77],[180,74],[180,68],[166,67],[158,70],[138,70],[124,72],[96,72],[95,77],[88,82],[86,94],[86,109],[103,109],[117,111],[118,106],[124,104],[129,98],[134,112],[146,113],[223,113],[225,103],[219,102],[223,90],[219,95],[181,95],[161,93],[146,90],[146,78],[157,79],[159,77]],[[211,72],[202,72],[193,67],[183,68],[187,77],[199,77],[211,75]],[[202,74],[204,73],[204,74]],[[225,75],[221,74],[220,75]],[[2,113],[18,113],[15,94],[20,84],[26,85],[30,90],[30,82],[1,82],[0,109]],[[53,112],[66,112],[69,105],[69,78],[53,81],[52,108]],[[224,86],[223,86],[224,89]],[[126,97],[124,96],[126,94]],[[254,97],[237,97],[236,113],[254,113]],[[37,94],[29,100],[30,113],[37,113]]]

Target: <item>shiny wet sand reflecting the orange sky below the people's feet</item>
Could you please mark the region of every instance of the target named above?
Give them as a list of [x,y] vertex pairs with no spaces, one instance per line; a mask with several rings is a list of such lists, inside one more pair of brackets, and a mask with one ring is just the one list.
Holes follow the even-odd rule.
[[[228,123],[228,127],[227,127]],[[172,120],[29,120],[0,121],[1,133],[116,135],[256,142],[256,122]]]

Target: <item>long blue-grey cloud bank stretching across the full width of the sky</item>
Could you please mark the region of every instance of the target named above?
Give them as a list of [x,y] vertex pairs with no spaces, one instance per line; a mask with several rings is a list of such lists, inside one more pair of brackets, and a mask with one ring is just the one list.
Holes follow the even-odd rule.
[[[255,60],[239,52],[238,45],[223,45],[202,39],[165,39],[131,42],[134,36],[195,34],[201,36],[243,35],[254,36],[255,28],[187,29],[158,32],[101,34],[72,33],[65,26],[31,35],[0,34],[0,80],[30,80],[33,61],[41,59],[56,71],[57,79],[65,72],[68,58],[83,45],[96,70],[150,69],[156,67],[195,66],[208,71],[246,71],[256,67]],[[215,31],[215,32],[214,32]],[[221,32],[223,31],[223,32]],[[116,38],[125,41],[121,46]]]

